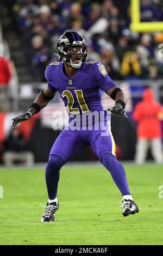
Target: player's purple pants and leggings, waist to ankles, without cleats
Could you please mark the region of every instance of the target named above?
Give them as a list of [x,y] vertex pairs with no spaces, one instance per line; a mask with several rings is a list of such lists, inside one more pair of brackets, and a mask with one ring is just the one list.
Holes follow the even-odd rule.
[[111,173],[112,179],[122,193],[130,194],[126,173],[115,156],[115,142],[111,134],[110,124],[106,129],[68,130],[68,126],[60,133],[53,144],[46,167],[46,184],[49,199],[57,197],[59,170],[68,160],[78,155],[87,145],[91,145],[98,159]]

